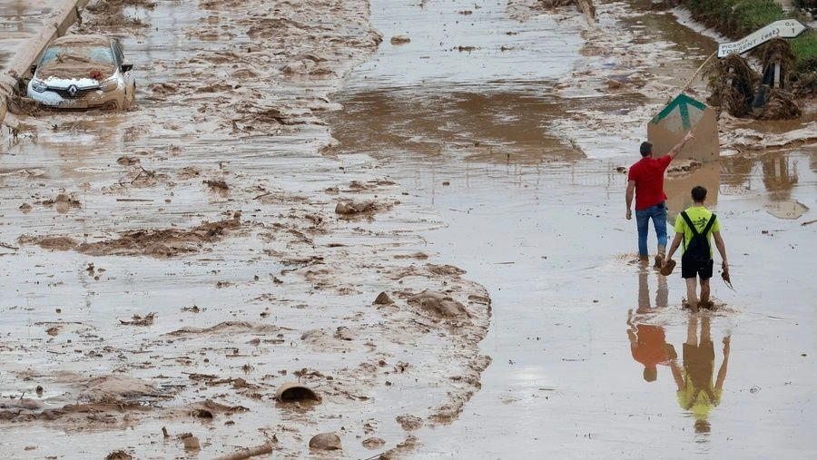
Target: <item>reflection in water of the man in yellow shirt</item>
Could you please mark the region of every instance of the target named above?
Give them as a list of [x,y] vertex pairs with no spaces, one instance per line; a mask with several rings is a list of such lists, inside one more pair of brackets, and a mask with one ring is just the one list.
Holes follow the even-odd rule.
[[731,338],[723,338],[723,363],[713,386],[714,346],[710,338],[709,317],[701,318],[700,342],[697,339],[697,328],[697,315],[691,315],[684,343],[684,369],[680,369],[675,362],[671,363],[671,367],[678,386],[678,405],[695,417],[697,433],[708,433],[710,428],[706,418],[712,408],[721,402]]

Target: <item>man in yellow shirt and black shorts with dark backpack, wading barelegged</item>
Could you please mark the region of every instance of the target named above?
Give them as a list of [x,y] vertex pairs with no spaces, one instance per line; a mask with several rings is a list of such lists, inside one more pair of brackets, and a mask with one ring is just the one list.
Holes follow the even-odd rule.
[[[675,237],[666,253],[667,261],[673,258],[675,250],[684,242],[684,254],[681,257],[681,276],[686,280],[686,299],[693,312],[698,311],[698,305],[711,307],[709,300],[709,279],[712,278],[714,260],[712,259],[712,244],[721,254],[721,266],[724,272],[729,271],[726,262],[726,247],[721,238],[721,223],[712,211],[704,207],[706,189],[697,185],[692,190],[693,205],[684,210],[675,218]],[[697,279],[701,279],[700,301],[696,294]]]

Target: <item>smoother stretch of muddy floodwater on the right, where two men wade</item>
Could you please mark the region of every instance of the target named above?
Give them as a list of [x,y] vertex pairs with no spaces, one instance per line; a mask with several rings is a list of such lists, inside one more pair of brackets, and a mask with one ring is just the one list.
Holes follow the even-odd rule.
[[[377,156],[438,210],[446,227],[428,233],[429,249],[493,301],[482,388],[450,426],[418,432],[417,456],[814,455],[817,289],[800,268],[817,256],[817,149],[732,153],[667,179],[673,215],[694,184],[710,190],[732,266],[735,290],[714,279],[717,308],[690,315],[677,270],[663,277],[635,259],[625,175],[615,169],[637,160],[646,122],[714,42],[674,15],[615,4],[600,7],[602,26],[579,43],[552,35],[581,29],[572,11],[528,9],[513,30],[536,38],[507,44],[514,53],[502,32],[518,5],[476,5],[373,2],[386,41],[336,95],[345,110],[330,118],[341,157]],[[411,42],[389,44],[396,34]],[[552,60],[551,40],[560,50]],[[464,43],[481,55],[468,61]],[[598,51],[611,49],[631,53]],[[595,51],[558,55],[573,50]],[[605,80],[623,69],[646,83],[608,93]],[[710,341],[707,371],[694,350]],[[635,359],[670,349],[676,366],[664,361],[655,378]],[[702,372],[722,391],[716,404],[690,406],[675,377]]]

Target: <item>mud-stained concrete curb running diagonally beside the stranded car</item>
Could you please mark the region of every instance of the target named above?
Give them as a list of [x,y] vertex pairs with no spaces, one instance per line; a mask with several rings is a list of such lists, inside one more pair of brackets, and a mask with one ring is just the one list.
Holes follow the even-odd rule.
[[0,75],[0,127],[8,126],[15,129],[18,121],[16,117],[8,112],[8,97],[15,93],[15,86],[23,78],[34,64],[45,45],[55,37],[62,36],[68,31],[79,17],[79,10],[88,5],[91,0],[64,0],[54,8],[54,16],[49,18],[51,24],[44,24],[44,29],[29,38],[12,59],[8,73]]

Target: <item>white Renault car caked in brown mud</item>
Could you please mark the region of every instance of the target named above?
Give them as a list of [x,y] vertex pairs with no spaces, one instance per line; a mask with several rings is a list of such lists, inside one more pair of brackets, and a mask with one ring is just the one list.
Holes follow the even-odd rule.
[[133,64],[116,39],[65,35],[32,66],[28,97],[54,109],[127,109],[136,98]]

